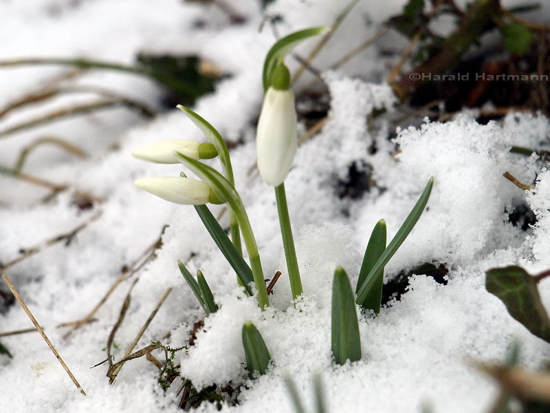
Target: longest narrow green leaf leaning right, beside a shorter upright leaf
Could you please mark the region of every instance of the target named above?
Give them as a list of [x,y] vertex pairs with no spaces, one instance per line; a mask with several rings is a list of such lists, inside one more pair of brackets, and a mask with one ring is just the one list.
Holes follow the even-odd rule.
[[426,188],[421,193],[420,198],[418,198],[418,201],[415,204],[415,207],[412,208],[412,210],[408,214],[408,217],[401,225],[401,228],[399,228],[399,231],[397,231],[397,233],[395,234],[395,237],[393,237],[388,247],[384,250],[384,253],[380,255],[380,258],[377,260],[376,264],[374,264],[373,268],[371,268],[369,275],[366,276],[366,279],[364,280],[357,294],[358,304],[365,301],[367,295],[369,295],[373,287],[376,285],[377,274],[380,272],[380,270],[382,270],[382,268],[384,268],[384,266],[386,266],[386,264],[388,264],[388,261],[391,260],[391,257],[393,257],[399,246],[403,244],[410,231],[412,231],[412,229],[415,227],[415,224],[419,220],[420,215],[422,215],[422,212],[424,211],[424,207],[426,207],[426,204],[428,203],[433,184],[434,178],[432,177],[428,180]]

